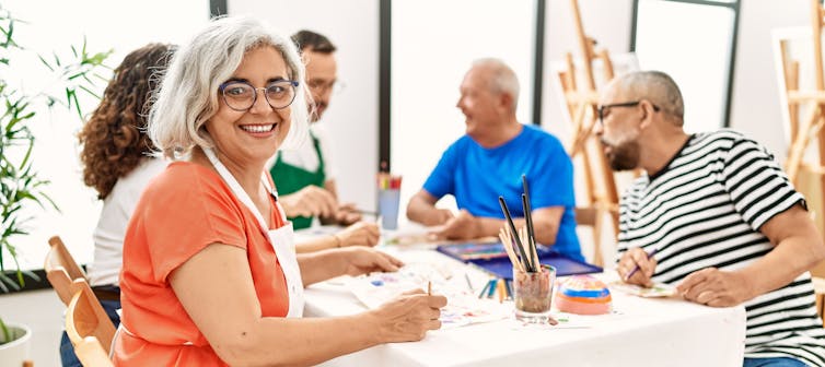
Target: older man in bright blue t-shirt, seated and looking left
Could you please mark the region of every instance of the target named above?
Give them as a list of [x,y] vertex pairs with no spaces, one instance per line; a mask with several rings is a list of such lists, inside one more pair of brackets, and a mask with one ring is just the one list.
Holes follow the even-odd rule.
[[[536,241],[583,260],[576,236],[573,167],[555,137],[515,118],[519,80],[502,61],[473,63],[461,84],[457,107],[467,133],[441,156],[427,182],[407,205],[407,216],[425,225],[443,225],[448,239],[497,236],[504,226],[502,196],[516,227],[524,225],[522,175],[527,177]],[[452,194],[460,212],[437,209]]]

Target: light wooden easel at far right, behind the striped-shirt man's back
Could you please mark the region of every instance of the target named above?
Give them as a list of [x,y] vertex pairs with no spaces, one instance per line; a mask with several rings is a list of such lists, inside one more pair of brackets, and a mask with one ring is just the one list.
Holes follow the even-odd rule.
[[[811,0],[811,40],[813,43],[813,68],[814,68],[814,90],[800,90],[799,61],[789,59],[789,45],[787,40],[780,43],[780,52],[782,59],[782,71],[785,73],[785,88],[788,100],[788,116],[790,132],[790,147],[788,159],[785,164],[785,170],[788,178],[794,186],[800,185],[800,173],[807,173],[818,176],[820,192],[815,192],[809,200],[818,199],[820,208],[825,208],[823,201],[822,188],[825,188],[825,79],[823,78],[823,57],[822,57],[822,32],[823,9],[821,0]],[[807,106],[805,118],[800,123],[800,109]],[[805,152],[811,145],[812,140],[816,140],[818,150],[818,162],[805,162]],[[814,216],[814,221],[820,221],[820,229],[825,228],[822,221],[825,221],[825,213]],[[817,217],[818,216],[818,217]],[[820,316],[825,312],[825,263],[821,263],[811,270],[815,276],[814,288],[816,291],[816,307]],[[816,279],[818,276],[818,279]]]

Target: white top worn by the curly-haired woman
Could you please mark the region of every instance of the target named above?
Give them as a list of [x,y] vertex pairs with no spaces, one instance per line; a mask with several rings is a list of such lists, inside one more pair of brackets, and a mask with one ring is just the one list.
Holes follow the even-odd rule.
[[123,267],[124,237],[129,218],[138,205],[143,188],[169,165],[169,161],[143,159],[135,169],[117,180],[108,197],[103,201],[101,218],[94,229],[94,261],[89,264],[86,275],[92,286],[119,284]]

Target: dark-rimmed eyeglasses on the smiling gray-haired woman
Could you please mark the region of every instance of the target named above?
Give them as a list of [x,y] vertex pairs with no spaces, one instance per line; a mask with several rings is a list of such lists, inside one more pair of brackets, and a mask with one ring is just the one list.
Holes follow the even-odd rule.
[[266,87],[254,87],[247,82],[232,81],[220,85],[219,90],[223,102],[236,111],[246,111],[255,106],[258,99],[258,90],[264,91],[264,97],[270,107],[275,109],[286,108],[295,99],[298,82],[282,80],[269,83]]

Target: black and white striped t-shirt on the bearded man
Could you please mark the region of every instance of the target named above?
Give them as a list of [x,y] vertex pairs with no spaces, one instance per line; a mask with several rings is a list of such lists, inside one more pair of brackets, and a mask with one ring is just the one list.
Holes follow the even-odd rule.
[[[774,245],[758,232],[804,198],[762,145],[731,130],[692,137],[655,176],[623,194],[619,253],[656,248],[654,282],[678,284],[709,267],[734,271]],[[793,357],[825,367],[825,329],[810,273],[744,304],[745,357]]]

